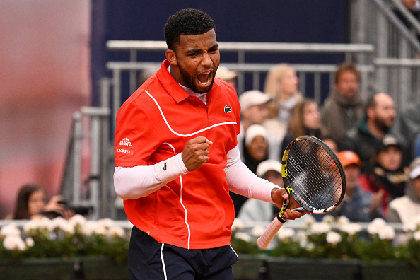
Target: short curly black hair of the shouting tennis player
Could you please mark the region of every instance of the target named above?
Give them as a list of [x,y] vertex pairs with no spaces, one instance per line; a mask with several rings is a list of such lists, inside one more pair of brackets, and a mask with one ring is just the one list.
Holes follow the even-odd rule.
[[203,11],[186,8],[177,11],[165,24],[165,40],[168,49],[173,49],[180,42],[180,35],[199,35],[214,29],[213,19]]

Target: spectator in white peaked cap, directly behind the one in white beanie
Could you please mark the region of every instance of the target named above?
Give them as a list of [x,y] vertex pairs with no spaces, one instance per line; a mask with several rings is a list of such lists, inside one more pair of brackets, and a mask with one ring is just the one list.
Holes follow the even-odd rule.
[[[240,149],[241,159],[245,161],[244,135],[245,131],[252,124],[263,124],[268,117],[268,104],[272,98],[261,91],[246,91],[239,97],[240,102],[240,133],[238,134],[238,148]],[[280,139],[271,132],[267,132],[269,144],[269,158],[279,158]]]

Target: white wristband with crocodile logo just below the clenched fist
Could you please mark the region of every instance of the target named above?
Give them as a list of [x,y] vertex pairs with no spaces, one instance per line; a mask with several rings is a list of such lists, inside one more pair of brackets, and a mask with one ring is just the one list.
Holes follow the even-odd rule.
[[156,163],[154,167],[156,178],[163,182],[163,184],[188,173],[184,161],[182,161],[182,153],[178,153],[176,156],[168,158],[166,161]]

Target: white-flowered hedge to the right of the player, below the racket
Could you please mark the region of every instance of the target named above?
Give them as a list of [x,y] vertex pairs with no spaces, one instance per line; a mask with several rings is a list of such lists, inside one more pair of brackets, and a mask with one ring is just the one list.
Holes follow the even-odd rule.
[[[263,253],[281,257],[361,259],[361,260],[406,260],[420,266],[420,216],[404,227],[404,243],[397,243],[394,228],[380,218],[368,224],[363,232],[358,223],[346,217],[333,218],[325,215],[322,222],[312,216],[305,220],[300,231],[281,228],[268,250],[259,250],[257,238],[260,226],[250,233],[242,231],[243,223],[235,220],[232,247],[238,253]],[[258,233],[258,234],[254,234]]]

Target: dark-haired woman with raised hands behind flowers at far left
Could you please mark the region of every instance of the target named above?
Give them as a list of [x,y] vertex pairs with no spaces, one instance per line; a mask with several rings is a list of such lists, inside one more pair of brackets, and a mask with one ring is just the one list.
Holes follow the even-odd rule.
[[14,220],[37,219],[43,216],[48,218],[54,218],[55,216],[70,218],[74,215],[74,211],[59,203],[62,199],[61,195],[56,195],[49,199],[49,202],[46,204],[45,189],[35,184],[23,185],[18,192],[16,209],[13,215],[7,218]]

